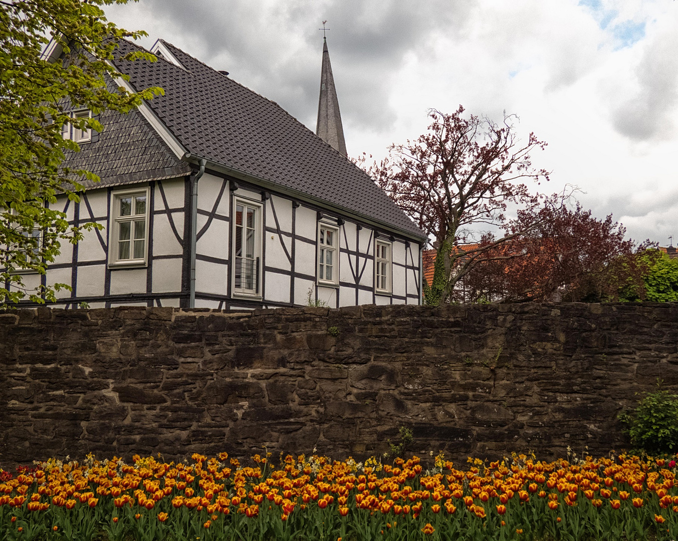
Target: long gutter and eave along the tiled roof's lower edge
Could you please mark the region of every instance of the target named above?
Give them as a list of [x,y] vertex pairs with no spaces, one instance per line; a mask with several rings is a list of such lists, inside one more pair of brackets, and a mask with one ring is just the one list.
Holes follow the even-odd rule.
[[[184,155],[184,159],[189,163],[195,163],[197,165],[197,163],[200,161],[200,159],[203,159],[203,157],[191,153],[186,153],[186,155]],[[426,237],[423,235],[422,236],[416,235],[412,233],[412,231],[407,231],[405,229],[394,226],[393,224],[376,220],[372,216],[367,216],[367,214],[356,212],[355,210],[350,209],[348,207],[344,207],[343,205],[338,205],[337,203],[333,203],[332,201],[327,201],[326,199],[315,197],[314,195],[302,192],[300,190],[296,190],[294,188],[290,188],[289,186],[284,186],[283,184],[279,184],[277,182],[274,182],[273,180],[269,180],[268,178],[263,178],[260,176],[253,175],[251,173],[247,173],[245,171],[241,171],[241,169],[236,169],[235,167],[231,167],[231,165],[226,165],[225,163],[220,163],[209,158],[204,159],[207,163],[206,167],[208,169],[212,169],[213,171],[227,174],[229,176],[238,178],[245,182],[252,182],[252,184],[258,184],[262,188],[268,188],[269,190],[289,195],[290,197],[294,197],[294,199],[299,199],[300,201],[305,201],[306,203],[313,203],[315,205],[325,207],[330,211],[334,211],[337,214],[341,214],[342,216],[346,216],[348,218],[355,218],[356,220],[359,220],[360,222],[363,222],[365,224],[376,226],[377,228],[389,231],[391,233],[397,233],[398,235],[402,235],[403,237],[411,239],[418,243],[426,241]]]

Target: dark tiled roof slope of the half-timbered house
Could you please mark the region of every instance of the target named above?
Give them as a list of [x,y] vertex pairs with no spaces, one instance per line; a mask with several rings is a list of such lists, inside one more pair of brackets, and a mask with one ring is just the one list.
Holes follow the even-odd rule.
[[[370,176],[278,104],[163,44],[186,69],[163,58],[116,64],[136,89],[165,90],[148,105],[188,152],[425,237]],[[121,42],[122,53],[133,47]]]

